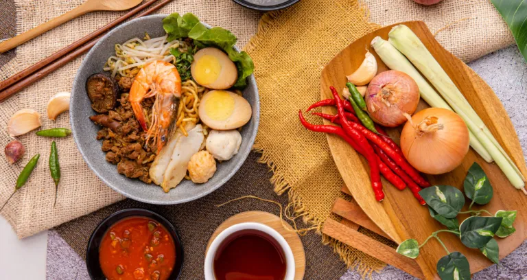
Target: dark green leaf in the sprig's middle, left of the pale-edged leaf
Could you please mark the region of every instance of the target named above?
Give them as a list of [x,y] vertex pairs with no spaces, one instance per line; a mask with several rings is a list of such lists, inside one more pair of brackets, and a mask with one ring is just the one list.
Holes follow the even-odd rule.
[[461,242],[469,248],[480,248],[492,239],[503,218],[469,217],[459,226]]

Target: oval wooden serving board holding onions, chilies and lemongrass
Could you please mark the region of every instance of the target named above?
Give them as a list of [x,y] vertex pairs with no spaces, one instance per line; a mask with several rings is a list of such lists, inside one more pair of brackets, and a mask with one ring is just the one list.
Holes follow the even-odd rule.
[[[465,63],[443,49],[436,42],[425,23],[421,21],[410,21],[399,24],[407,25],[419,36],[423,44],[430,50],[450,78],[452,78],[484,123],[487,124],[497,141],[500,142],[524,176],[527,177],[527,167],[525,165],[522,147],[518,141],[511,119],[508,118],[506,110],[490,86],[467,67]],[[355,40],[355,42],[343,49],[340,54],[329,62],[323,69],[320,80],[322,99],[332,98],[329,86],[335,86],[339,93],[342,93],[342,89],[347,82],[346,75],[358,69],[362,60],[364,60],[366,49],[369,49],[375,55],[375,58],[377,58],[379,73],[388,70],[382,60],[375,54],[370,43],[375,36],[381,36],[387,39],[388,32],[390,32],[393,26],[395,25],[384,27]],[[426,107],[428,105],[421,100],[418,110]],[[323,113],[336,114],[336,109],[332,107],[324,107],[322,110]],[[329,121],[325,121],[325,124],[329,124]],[[388,130],[388,133],[394,139],[399,137],[398,129]],[[441,224],[430,217],[427,207],[423,207],[417,203],[417,200],[412,196],[409,189],[399,191],[383,179],[386,198],[382,202],[375,201],[373,191],[370,187],[366,160],[339,137],[327,135],[327,141],[333,154],[333,160],[353,198],[360,205],[364,213],[392,240],[400,243],[408,238],[414,238],[419,242],[423,242],[433,231],[444,229]],[[518,211],[514,224],[517,231],[505,239],[497,238],[497,242],[500,245],[500,258],[502,258],[511,253],[526,239],[527,197],[522,194],[522,191],[515,189],[508,182],[497,165],[485,162],[473,150],[469,150],[462,164],[452,172],[427,177],[432,185],[452,185],[462,189],[462,183],[467,174],[467,170],[474,161],[482,166],[494,188],[494,196],[491,202],[484,206],[484,209],[492,213],[499,209]],[[467,206],[468,203],[464,209]],[[465,217],[460,218],[462,220]],[[458,237],[449,233],[441,233],[440,237],[450,252],[459,251],[467,256],[472,273],[487,268],[492,264],[479,250],[469,249],[463,246]],[[444,255],[446,255],[445,250],[435,240],[428,242],[428,244],[421,248],[421,254],[417,257],[416,261],[427,279],[438,277],[436,275],[436,264],[438,259]]]

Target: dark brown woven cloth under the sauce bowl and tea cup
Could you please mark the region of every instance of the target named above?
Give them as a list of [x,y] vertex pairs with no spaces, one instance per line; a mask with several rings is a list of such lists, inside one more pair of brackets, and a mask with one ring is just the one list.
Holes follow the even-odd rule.
[[[148,205],[126,199],[114,205],[104,207],[89,215],[56,227],[56,231],[82,258],[86,255],[86,246],[95,226],[106,216],[127,208],[144,208],[160,213],[178,229],[183,240],[185,260],[180,279],[203,279],[204,253],[209,237],[224,220],[243,211],[259,210],[279,215],[279,207],[270,202],[244,199],[224,205],[240,196],[254,195],[274,200],[282,205],[288,204],[288,196],[274,194],[270,183],[272,173],[267,165],[257,163],[259,154],[252,152],[242,168],[220,189],[212,194],[184,203],[182,205]],[[303,225],[299,222],[298,225]],[[320,242],[320,235],[310,231],[301,237],[305,249],[306,271],[304,279],[339,279],[346,272],[346,265],[333,253],[331,246]]]

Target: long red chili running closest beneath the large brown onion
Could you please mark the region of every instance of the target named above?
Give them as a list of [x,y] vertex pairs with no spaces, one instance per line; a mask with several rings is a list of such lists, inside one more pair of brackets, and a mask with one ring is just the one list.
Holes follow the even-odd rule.
[[[329,119],[330,121],[334,117],[332,115],[327,115],[327,114],[315,114],[315,115],[319,115],[320,117]],[[347,114],[344,113],[344,115],[347,115]],[[335,124],[342,125],[342,119],[343,118],[335,119]],[[403,156],[395,152],[395,150],[393,150],[384,140],[382,140],[381,137],[379,137],[379,135],[375,134],[371,130],[368,130],[364,126],[360,124],[356,124],[354,122],[349,121],[349,125],[355,130],[358,130],[359,132],[361,132],[362,135],[364,135],[368,140],[372,141],[373,143],[377,144],[380,148],[382,148],[382,150],[384,150],[384,152],[386,152],[386,154],[388,154],[388,156],[390,156],[390,158],[393,159],[395,163],[397,163],[399,167],[401,167],[401,169],[404,170],[404,172],[406,172],[406,174],[408,174],[412,178],[412,180],[414,180],[414,182],[416,182],[418,185],[421,185],[421,187],[425,187],[427,185],[430,186],[430,183],[428,183],[428,181],[425,180],[421,176],[421,174],[419,174],[419,172],[417,172],[417,170],[415,170],[415,168],[412,167],[412,165],[410,165],[408,161],[406,161],[406,159]]]

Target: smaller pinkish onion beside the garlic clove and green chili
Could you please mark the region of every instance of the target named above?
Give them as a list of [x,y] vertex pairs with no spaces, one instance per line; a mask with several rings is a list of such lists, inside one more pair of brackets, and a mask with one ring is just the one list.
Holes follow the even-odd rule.
[[419,103],[419,86],[401,71],[384,71],[371,80],[366,91],[366,108],[371,119],[382,126],[395,127],[412,115]]

